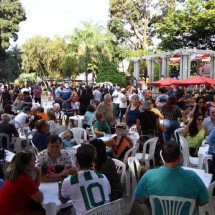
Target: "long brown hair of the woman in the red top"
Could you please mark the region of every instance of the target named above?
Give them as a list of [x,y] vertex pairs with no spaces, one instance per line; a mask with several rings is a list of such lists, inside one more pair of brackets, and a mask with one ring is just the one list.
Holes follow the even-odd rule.
[[30,163],[32,158],[33,154],[31,152],[17,153],[6,169],[5,178],[9,181],[13,181],[21,174],[28,175],[26,166]]

